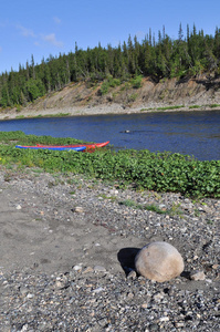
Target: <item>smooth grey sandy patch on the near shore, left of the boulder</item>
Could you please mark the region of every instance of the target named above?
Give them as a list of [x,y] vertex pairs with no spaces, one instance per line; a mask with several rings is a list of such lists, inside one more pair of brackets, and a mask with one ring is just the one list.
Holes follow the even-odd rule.
[[[46,185],[49,178],[44,175],[41,183]],[[108,228],[94,225],[95,209],[90,212],[90,206],[85,204],[83,212],[74,212],[76,203],[70,198],[71,195],[65,199],[65,190],[59,190],[57,198],[54,198],[53,194],[38,191],[38,184],[35,188],[32,185],[22,179],[0,184],[2,271],[27,267],[54,272],[83,263],[118,272],[123,271],[118,252],[130,245],[135,248],[145,245],[132,236],[113,236]],[[103,205],[103,211],[97,211],[96,216],[102,218],[102,214],[106,212]]]

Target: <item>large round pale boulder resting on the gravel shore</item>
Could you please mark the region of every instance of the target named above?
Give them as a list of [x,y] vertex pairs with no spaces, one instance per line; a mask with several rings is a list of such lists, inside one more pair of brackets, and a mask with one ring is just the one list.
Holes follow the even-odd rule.
[[140,249],[135,257],[136,271],[158,282],[178,277],[184,267],[179,251],[167,242],[151,242]]

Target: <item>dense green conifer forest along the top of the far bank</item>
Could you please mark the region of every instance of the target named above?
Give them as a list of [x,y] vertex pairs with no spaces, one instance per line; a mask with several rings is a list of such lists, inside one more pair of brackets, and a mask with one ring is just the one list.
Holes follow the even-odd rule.
[[41,64],[20,65],[19,71],[4,72],[0,75],[0,107],[27,105],[50,92],[61,90],[71,82],[102,82],[116,80],[126,82],[132,77],[151,76],[159,81],[163,77],[191,77],[201,73],[220,74],[220,29],[214,35],[190,31],[184,37],[181,24],[178,39],[170,39],[165,28],[155,34],[149,33],[139,42],[128,37],[127,42],[113,48],[101,44],[94,49],[75,51],[59,56],[50,55]]

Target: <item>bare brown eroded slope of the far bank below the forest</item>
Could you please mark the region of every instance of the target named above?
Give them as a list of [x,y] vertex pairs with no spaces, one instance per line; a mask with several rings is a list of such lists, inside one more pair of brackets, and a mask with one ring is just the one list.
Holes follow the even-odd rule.
[[[0,118],[46,115],[93,115],[160,111],[212,110],[220,107],[220,77],[142,80],[140,87],[132,81],[117,86],[104,83],[70,83],[64,89],[38,98],[22,108],[3,110]],[[181,106],[181,107],[180,107]],[[159,108],[159,110],[158,110]],[[164,110],[166,111],[166,110]]]

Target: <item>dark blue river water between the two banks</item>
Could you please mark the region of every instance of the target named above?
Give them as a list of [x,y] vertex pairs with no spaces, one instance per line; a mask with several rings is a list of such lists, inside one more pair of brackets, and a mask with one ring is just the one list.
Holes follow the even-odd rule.
[[11,120],[1,121],[0,131],[111,141],[116,148],[169,151],[200,160],[220,159],[220,111]]

